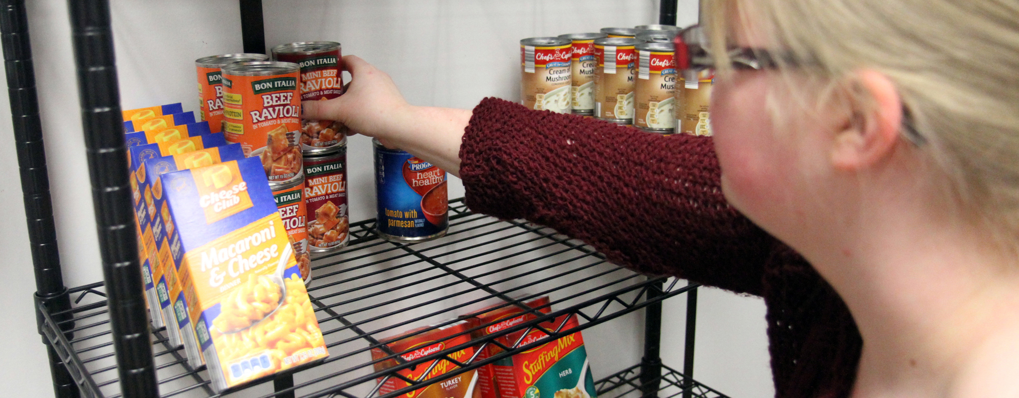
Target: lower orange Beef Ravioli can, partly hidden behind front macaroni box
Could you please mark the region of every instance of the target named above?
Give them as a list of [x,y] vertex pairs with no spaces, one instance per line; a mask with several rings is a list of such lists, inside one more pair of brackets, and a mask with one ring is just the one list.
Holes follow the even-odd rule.
[[283,219],[286,237],[293,246],[293,255],[298,260],[301,279],[308,285],[312,281],[312,258],[308,252],[308,209],[305,207],[305,181],[298,179],[272,187],[272,197],[276,200],[276,209]]

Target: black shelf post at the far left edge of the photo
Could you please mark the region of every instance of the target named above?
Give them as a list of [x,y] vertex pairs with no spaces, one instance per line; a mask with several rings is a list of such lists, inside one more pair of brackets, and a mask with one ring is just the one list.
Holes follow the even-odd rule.
[[[56,227],[53,222],[53,204],[50,200],[49,173],[46,168],[46,152],[43,148],[43,130],[39,118],[39,97],[36,92],[36,72],[32,61],[32,45],[29,41],[29,18],[23,0],[0,2],[0,32],[3,36],[3,59],[7,71],[7,94],[10,98],[10,112],[14,129],[14,146],[17,151],[17,165],[21,176],[21,193],[24,201],[24,217],[29,224],[29,244],[36,274],[36,303],[53,311],[70,309],[67,288],[63,284],[60,271],[60,255],[57,251]],[[65,314],[59,321],[70,320]],[[36,310],[39,334],[46,328],[43,311]],[[74,327],[73,322],[65,322],[62,330]],[[78,391],[74,380],[64,366],[64,359],[43,337],[53,376],[53,390],[57,397],[76,397]]]

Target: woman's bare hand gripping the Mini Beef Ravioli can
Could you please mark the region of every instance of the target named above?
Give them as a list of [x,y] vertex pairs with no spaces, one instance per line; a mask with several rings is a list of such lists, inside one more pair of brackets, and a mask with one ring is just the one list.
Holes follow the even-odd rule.
[[412,107],[388,74],[354,55],[343,57],[343,69],[351,72],[346,93],[332,100],[303,102],[304,118],[337,120],[352,133],[380,140],[413,124]]

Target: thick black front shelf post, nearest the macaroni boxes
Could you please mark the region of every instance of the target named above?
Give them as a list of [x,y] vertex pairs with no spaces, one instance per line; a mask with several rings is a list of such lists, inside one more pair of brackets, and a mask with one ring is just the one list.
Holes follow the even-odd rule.
[[106,0],[68,0],[82,124],[117,373],[124,397],[159,395],[136,243],[120,93]]

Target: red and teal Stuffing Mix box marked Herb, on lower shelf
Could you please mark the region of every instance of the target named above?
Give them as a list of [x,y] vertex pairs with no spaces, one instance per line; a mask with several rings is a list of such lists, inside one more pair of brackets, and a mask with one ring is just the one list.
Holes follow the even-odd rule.
[[[555,330],[566,322],[564,329],[580,324],[577,316],[561,316],[541,323],[546,330]],[[501,336],[496,341],[512,345],[523,331]],[[494,364],[499,396],[502,398],[596,398],[594,379],[587,363],[587,350],[580,332],[550,339],[548,335],[533,330],[524,336],[521,345],[550,340],[535,348],[499,359]]]

